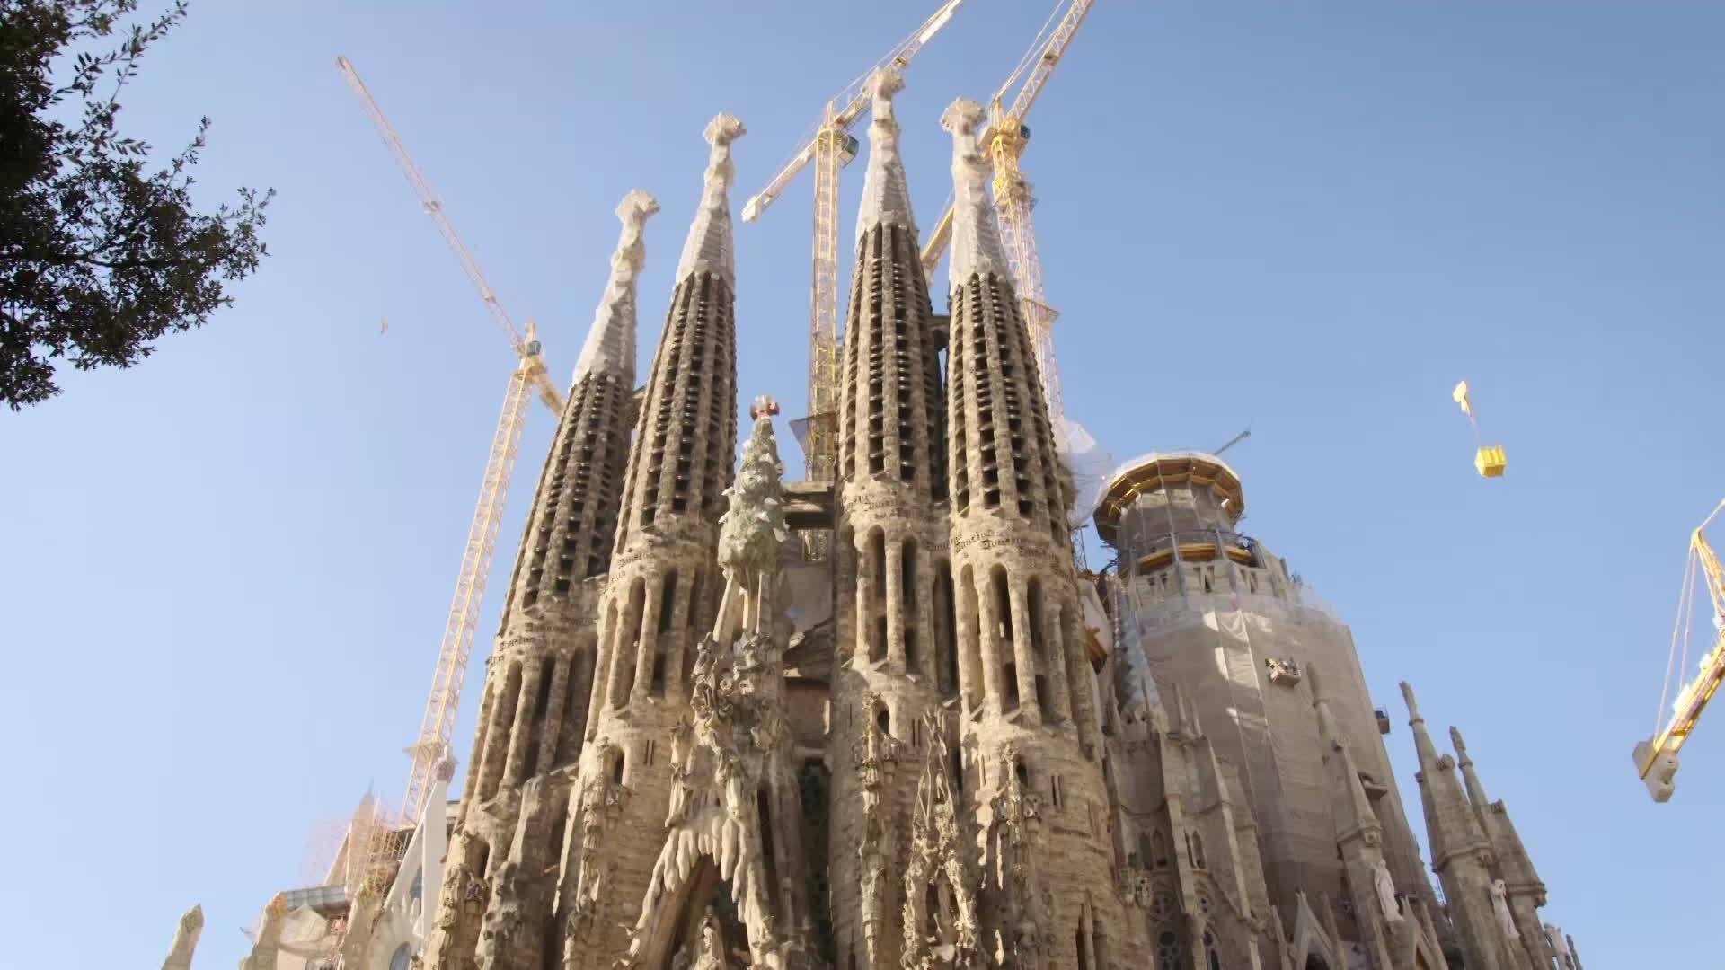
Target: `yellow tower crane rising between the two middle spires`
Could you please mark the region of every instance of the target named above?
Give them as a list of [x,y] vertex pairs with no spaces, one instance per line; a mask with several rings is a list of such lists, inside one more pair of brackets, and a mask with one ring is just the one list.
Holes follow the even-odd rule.
[[[743,221],[756,221],[797,178],[814,164],[814,283],[809,293],[809,418],[804,433],[804,476],[830,480],[838,459],[838,169],[857,155],[850,128],[869,107],[868,78],[880,67],[902,71],[940,28],[947,26],[963,0],[945,0],[923,26],[892,48],[885,59],[826,102],[826,110],[797,154],[773,181],[743,205]],[[842,107],[840,107],[842,105]]]

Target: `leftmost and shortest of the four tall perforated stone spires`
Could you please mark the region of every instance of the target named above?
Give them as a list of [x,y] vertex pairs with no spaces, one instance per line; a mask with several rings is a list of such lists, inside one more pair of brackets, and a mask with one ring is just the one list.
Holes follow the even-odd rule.
[[[555,872],[543,870],[561,856],[561,813],[593,687],[595,616],[635,419],[642,228],[657,211],[640,190],[618,207],[623,235],[611,278],[533,494],[497,649],[486,661],[442,911],[426,948],[431,967],[516,965],[538,953],[535,941],[552,918]],[[493,879],[505,866],[509,879]],[[507,941],[490,932],[481,960],[483,929],[518,918],[531,923],[531,932],[514,937],[526,953],[499,951]]]

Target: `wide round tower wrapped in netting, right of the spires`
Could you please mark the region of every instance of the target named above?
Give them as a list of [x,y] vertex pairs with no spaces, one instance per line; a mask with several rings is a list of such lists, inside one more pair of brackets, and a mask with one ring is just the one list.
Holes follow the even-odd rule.
[[[1397,885],[1435,906],[1352,635],[1311,601],[1261,540],[1237,532],[1245,511],[1239,476],[1216,456],[1156,452],[1116,471],[1095,513],[1120,552],[1118,604],[1157,683],[1180,685],[1204,718],[1218,756],[1239,770],[1258,822],[1264,882],[1282,918],[1295,892],[1340,899],[1342,861],[1330,818],[1309,663],[1323,666],[1327,706],[1383,827]],[[1137,823],[1154,835],[1149,822]],[[1161,832],[1175,839],[1175,832]],[[1347,922],[1347,913],[1342,913]]]

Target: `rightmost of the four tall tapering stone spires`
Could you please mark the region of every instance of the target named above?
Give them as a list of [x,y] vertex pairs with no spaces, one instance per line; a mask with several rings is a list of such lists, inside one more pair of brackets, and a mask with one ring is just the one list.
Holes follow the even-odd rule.
[[[1106,967],[1133,946],[1109,872],[1107,794],[1047,406],[983,190],[982,105],[954,102],[950,554],[964,797],[987,873],[985,951]],[[1076,948],[1076,951],[1073,951]]]

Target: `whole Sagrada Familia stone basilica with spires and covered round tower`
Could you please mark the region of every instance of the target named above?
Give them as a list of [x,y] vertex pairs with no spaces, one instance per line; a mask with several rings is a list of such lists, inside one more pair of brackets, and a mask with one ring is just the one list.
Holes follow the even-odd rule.
[[[1116,559],[1078,568],[983,110],[942,119],[937,314],[899,86],[871,81],[837,469],[783,480],[769,399],[733,461],[743,126],[721,114],[642,395],[657,204],[619,209],[464,792],[392,885],[278,896],[247,967],[1578,970],[1508,808],[1404,683],[1433,885],[1396,718],[1347,627],[1237,532],[1226,463],[1121,466],[1094,509]],[[338,953],[295,942],[331,925]]]

